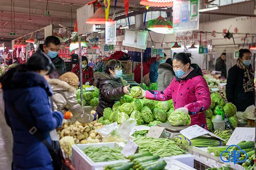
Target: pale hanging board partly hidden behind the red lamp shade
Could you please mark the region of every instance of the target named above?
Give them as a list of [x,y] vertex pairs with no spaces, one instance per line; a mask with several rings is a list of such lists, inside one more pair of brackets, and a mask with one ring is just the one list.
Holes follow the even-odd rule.
[[93,15],[93,4],[84,5],[76,10],[78,34],[95,32],[96,28],[93,24],[87,24],[86,20]]

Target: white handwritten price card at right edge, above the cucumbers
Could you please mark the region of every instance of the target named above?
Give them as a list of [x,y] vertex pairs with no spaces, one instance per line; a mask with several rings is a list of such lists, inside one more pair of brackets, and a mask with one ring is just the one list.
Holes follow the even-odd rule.
[[254,141],[255,127],[236,127],[226,145],[238,144],[241,141]]

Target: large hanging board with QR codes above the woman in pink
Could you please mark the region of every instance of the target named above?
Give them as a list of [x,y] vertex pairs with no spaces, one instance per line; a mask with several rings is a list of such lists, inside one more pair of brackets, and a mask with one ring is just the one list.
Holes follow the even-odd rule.
[[199,29],[199,0],[173,1],[173,28],[175,31]]

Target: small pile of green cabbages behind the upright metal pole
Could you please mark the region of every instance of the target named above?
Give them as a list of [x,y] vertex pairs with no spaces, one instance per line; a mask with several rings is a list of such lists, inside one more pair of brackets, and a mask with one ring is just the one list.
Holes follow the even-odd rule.
[[[81,105],[81,90],[80,88],[76,91],[76,99]],[[94,87],[93,91],[86,91],[83,87],[83,106],[92,106],[95,107],[99,104],[99,89]]]

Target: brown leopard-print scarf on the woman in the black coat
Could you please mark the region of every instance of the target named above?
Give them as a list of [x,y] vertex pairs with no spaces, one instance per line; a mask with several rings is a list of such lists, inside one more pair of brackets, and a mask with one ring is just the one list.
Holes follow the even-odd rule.
[[240,69],[244,70],[244,80],[243,80],[244,92],[253,91],[253,89],[254,89],[254,84],[253,84],[254,74],[253,74],[252,66],[250,65],[249,67],[247,67],[246,65],[244,65],[243,62],[241,62],[240,59],[237,59],[236,65]]

